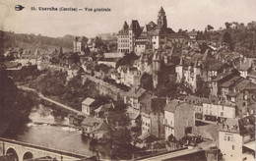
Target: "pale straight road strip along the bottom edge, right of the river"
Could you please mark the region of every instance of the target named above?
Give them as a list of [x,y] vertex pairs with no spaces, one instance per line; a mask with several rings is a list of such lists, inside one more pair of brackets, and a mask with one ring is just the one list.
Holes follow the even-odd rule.
[[154,156],[154,157],[146,158],[146,159],[142,159],[142,160],[145,160],[145,161],[165,160],[165,159],[171,159],[171,158],[175,158],[178,156],[191,154],[191,153],[198,152],[198,151],[200,151],[200,149],[198,149],[198,148],[184,149],[184,150],[175,151],[175,152],[171,152],[171,153],[167,153],[167,154],[162,154],[159,156]]

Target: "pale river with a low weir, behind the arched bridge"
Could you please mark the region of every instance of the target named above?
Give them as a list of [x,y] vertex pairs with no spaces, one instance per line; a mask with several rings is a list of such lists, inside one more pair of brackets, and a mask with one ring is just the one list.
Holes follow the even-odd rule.
[[[31,122],[22,132],[9,138],[86,156],[96,155],[97,148],[105,148],[102,147],[104,145],[92,145],[89,137],[69,124],[67,114],[62,114],[62,117],[53,114],[51,108],[39,104],[32,109]],[[100,158],[108,158],[102,152],[99,155]]]

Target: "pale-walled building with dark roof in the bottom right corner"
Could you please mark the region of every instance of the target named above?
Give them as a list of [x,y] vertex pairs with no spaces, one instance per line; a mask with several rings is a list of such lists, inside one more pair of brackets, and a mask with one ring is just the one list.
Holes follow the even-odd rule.
[[224,160],[255,160],[255,116],[227,119],[219,132]]

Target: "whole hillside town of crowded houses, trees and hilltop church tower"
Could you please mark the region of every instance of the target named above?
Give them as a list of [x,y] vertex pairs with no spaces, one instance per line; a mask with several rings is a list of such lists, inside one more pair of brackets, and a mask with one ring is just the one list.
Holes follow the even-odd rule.
[[1,68],[21,88],[74,109],[69,124],[94,143],[111,142],[114,159],[188,148],[205,151],[195,160],[255,160],[255,38],[245,50],[230,34],[252,27],[255,37],[256,22],[225,24],[218,42],[211,26],[167,27],[163,7],[153,19],[75,36],[72,49],[16,44],[3,49]]

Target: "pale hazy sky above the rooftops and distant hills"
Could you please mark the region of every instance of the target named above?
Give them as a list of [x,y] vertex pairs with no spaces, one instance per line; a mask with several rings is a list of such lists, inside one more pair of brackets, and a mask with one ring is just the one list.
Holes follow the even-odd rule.
[[[25,7],[15,11],[15,5]],[[160,6],[167,26],[203,30],[207,25],[218,29],[225,22],[245,25],[256,21],[256,0],[0,0],[0,29],[47,36],[66,34],[94,37],[117,32],[124,21],[138,20],[144,27],[157,23]],[[31,7],[37,10],[32,11]],[[110,12],[38,11],[38,7],[109,8]]]

